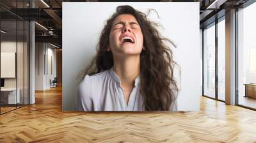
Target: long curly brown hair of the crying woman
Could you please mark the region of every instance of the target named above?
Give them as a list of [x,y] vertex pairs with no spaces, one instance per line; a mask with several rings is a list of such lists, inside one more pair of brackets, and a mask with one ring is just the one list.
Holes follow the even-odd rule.
[[[162,38],[154,26],[155,22],[147,19],[147,15],[134,10],[132,6],[118,6],[116,12],[107,20],[100,35],[97,56],[86,68],[84,75],[93,75],[104,72],[113,67],[113,54],[107,51],[109,46],[109,34],[113,21],[118,15],[133,15],[138,21],[143,34],[143,47],[140,54],[140,93],[144,98],[145,110],[170,110],[170,105],[175,100],[175,92],[178,91],[173,77],[175,61],[170,47],[164,41],[172,43],[167,38]],[[173,44],[173,43],[172,43]]]

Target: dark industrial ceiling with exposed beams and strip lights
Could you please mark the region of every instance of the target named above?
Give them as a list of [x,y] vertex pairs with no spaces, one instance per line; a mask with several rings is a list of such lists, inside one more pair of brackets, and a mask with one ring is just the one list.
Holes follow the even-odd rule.
[[[19,18],[20,20],[35,20],[36,28],[36,41],[44,41],[56,43],[61,47],[61,35],[62,35],[62,2],[76,2],[76,0],[1,0],[0,1],[0,15],[4,27],[11,31],[15,29],[14,22]],[[90,0],[80,0],[90,1]],[[92,0],[96,1],[96,0]],[[115,0],[99,0],[100,2],[115,1]],[[125,1],[125,0],[121,0]],[[136,1],[136,0],[130,0]],[[143,1],[143,0],[141,0]],[[147,0],[156,1],[156,0]],[[147,2],[145,1],[145,2]],[[216,13],[223,13],[225,10],[239,6],[248,0],[161,0],[172,2],[200,2],[200,27],[214,21]],[[127,1],[125,1],[127,2]],[[32,8],[33,7],[33,8]],[[221,14],[218,15],[221,17]],[[42,27],[43,26],[43,27]],[[3,26],[1,26],[3,27]],[[18,29],[17,33],[20,33]],[[13,34],[15,31],[13,31]]]

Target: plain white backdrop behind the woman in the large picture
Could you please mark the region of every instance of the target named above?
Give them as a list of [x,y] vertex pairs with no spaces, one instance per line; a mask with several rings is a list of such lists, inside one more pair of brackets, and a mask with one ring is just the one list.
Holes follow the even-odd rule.
[[156,13],[150,20],[159,22],[161,34],[174,41],[174,60],[181,68],[175,70],[175,77],[181,91],[178,110],[199,110],[200,86],[200,40],[199,3],[63,3],[63,110],[75,110],[79,79],[96,54],[96,45],[104,22],[115,12],[116,6],[131,5],[147,13],[154,8]]

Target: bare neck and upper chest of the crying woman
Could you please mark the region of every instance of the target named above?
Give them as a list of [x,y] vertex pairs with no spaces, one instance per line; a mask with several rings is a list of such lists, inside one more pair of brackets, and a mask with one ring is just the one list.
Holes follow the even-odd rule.
[[115,58],[113,70],[121,80],[124,90],[132,89],[135,79],[140,75],[140,56]]

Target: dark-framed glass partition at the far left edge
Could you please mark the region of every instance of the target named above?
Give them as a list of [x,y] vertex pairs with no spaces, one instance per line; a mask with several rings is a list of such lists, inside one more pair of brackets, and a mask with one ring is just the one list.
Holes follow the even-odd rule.
[[[28,2],[0,4],[12,11],[29,8]],[[0,114],[29,104],[29,22],[8,10],[0,8]]]

